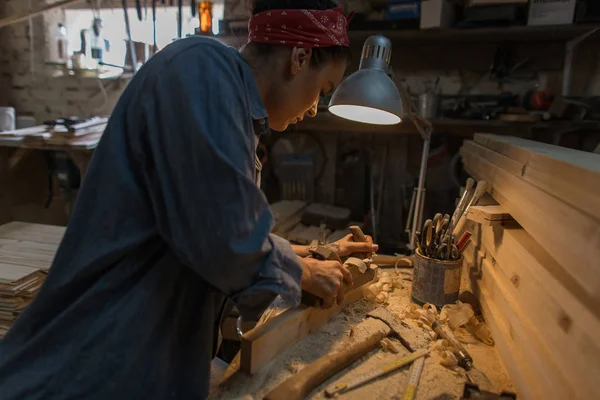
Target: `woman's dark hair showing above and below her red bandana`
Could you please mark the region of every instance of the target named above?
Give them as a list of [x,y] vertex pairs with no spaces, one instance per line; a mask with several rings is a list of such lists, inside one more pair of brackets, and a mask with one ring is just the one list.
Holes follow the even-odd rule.
[[[307,10],[330,10],[338,7],[332,0],[255,0],[252,6],[252,14],[258,14],[269,10],[282,9],[307,9]],[[261,56],[268,56],[273,45],[265,43],[252,43],[253,49]],[[329,61],[349,62],[352,52],[350,47],[333,46],[313,48],[310,65],[318,68]]]

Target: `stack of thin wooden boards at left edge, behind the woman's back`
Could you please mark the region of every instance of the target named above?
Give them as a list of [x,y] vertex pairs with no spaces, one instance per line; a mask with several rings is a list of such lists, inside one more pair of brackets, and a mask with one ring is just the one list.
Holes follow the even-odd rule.
[[0,226],[0,339],[42,286],[64,230],[22,222]]

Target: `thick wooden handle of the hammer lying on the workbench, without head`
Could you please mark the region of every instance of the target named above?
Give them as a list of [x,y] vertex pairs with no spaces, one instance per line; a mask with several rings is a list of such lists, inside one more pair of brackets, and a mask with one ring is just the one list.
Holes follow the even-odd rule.
[[282,384],[271,390],[264,400],[303,400],[317,386],[344,370],[371,350],[379,346],[379,342],[391,332],[388,329],[378,330],[366,340],[346,347],[334,354],[327,354],[299,373],[288,378]]

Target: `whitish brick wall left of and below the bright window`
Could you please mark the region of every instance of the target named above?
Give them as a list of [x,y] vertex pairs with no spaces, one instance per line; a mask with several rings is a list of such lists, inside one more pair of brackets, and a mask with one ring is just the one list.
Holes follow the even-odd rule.
[[[28,8],[24,0],[2,3],[5,15]],[[32,0],[32,7],[42,3]],[[57,9],[34,17],[33,29],[27,22],[0,29],[0,101],[15,107],[18,115],[35,117],[38,123],[59,116],[109,114],[127,84],[124,80],[53,77],[56,71],[44,62],[52,58],[56,28],[63,21],[64,12]]]

